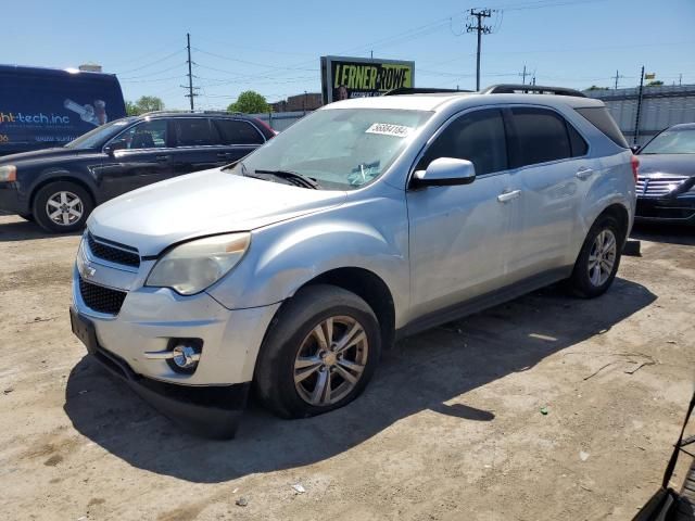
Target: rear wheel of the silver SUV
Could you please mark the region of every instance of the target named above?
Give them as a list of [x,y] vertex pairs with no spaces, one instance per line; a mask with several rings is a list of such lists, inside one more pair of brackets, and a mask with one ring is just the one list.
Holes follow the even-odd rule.
[[567,280],[570,291],[582,298],[603,295],[618,272],[623,242],[618,221],[610,215],[598,217],[586,233]]

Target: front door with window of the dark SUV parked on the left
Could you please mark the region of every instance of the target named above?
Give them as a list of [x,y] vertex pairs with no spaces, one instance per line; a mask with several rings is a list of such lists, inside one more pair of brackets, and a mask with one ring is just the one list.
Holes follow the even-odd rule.
[[172,147],[166,119],[138,123],[106,145],[111,155],[99,168],[104,199],[170,177]]

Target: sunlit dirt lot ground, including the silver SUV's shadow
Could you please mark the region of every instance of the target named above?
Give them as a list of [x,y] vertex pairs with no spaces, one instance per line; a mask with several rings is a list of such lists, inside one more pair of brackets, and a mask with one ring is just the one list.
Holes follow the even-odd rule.
[[695,380],[695,232],[670,233],[640,230],[642,257],[599,300],[551,288],[446,325],[387,353],[339,411],[252,406],[237,440],[211,442],[85,357],[78,237],[0,217],[1,517],[630,519]]

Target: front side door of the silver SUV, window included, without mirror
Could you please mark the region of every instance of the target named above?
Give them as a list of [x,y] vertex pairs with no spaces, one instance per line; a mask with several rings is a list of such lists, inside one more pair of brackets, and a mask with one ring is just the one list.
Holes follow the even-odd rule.
[[510,229],[502,112],[483,109],[450,120],[416,170],[438,157],[472,162],[470,185],[409,189],[412,318],[454,306],[505,283]]

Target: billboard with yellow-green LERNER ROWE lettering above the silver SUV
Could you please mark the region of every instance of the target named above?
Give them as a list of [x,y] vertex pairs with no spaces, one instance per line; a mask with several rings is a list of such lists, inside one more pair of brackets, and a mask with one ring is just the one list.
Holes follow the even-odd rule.
[[321,56],[324,103],[381,96],[414,86],[415,62],[349,56]]

